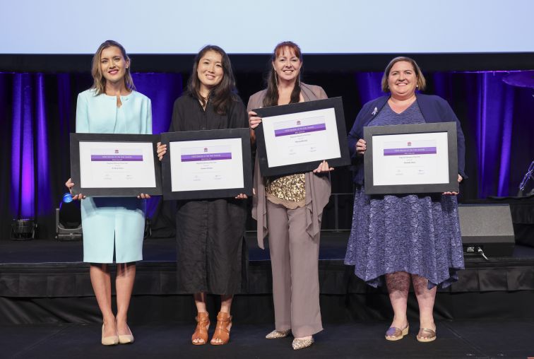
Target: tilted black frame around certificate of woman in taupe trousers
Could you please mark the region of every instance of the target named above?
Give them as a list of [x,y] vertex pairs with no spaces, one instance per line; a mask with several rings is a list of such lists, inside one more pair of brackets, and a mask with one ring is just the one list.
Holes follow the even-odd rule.
[[[325,100],[315,100],[307,102],[292,103],[290,105],[280,105],[273,107],[262,107],[253,110],[259,117],[272,117],[284,114],[295,114],[299,112],[308,112],[314,110],[324,110],[333,108],[336,114],[336,127],[338,133],[338,143],[340,148],[340,157],[338,158],[323,158],[328,161],[331,167],[340,167],[350,165],[350,155],[347,145],[347,131],[345,129],[345,115],[343,114],[343,101],[340,97],[328,98]],[[256,127],[256,146],[259,166],[262,176],[279,176],[290,175],[293,173],[309,172],[317,168],[320,160],[314,160],[305,163],[294,163],[291,165],[280,165],[270,167],[267,158],[266,146],[275,146],[275,144],[268,144],[265,140],[263,124]]]

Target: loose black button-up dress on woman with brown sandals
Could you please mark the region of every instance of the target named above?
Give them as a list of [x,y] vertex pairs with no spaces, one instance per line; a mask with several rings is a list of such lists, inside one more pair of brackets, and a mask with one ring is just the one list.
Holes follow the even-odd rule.
[[[226,114],[210,102],[184,94],[174,102],[170,132],[248,127],[243,102],[232,101]],[[248,252],[244,242],[247,201],[206,199],[178,201],[177,276],[179,290],[232,295],[245,290]]]

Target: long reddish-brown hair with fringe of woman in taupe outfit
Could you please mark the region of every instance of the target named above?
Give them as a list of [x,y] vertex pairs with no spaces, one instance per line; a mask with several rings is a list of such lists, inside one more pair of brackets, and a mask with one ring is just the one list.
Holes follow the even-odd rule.
[[[302,62],[302,51],[300,51],[299,45],[295,44],[295,42],[284,41],[276,45],[273,51],[273,56],[271,57],[271,61],[269,62],[269,67],[271,69],[267,75],[267,93],[265,98],[263,98],[263,107],[278,105],[278,78],[276,77],[276,71],[274,69],[273,62],[284,51],[284,49],[294,52],[295,56],[298,57]],[[302,70],[302,67],[300,69]],[[295,87],[293,87],[293,90],[291,91],[290,103],[297,103],[300,101],[300,73],[301,71],[299,71],[299,76],[295,82]]]

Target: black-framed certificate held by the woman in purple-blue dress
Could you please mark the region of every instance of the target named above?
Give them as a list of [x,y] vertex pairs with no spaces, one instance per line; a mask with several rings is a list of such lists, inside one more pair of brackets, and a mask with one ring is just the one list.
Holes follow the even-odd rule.
[[366,194],[458,192],[456,123],[364,127]]

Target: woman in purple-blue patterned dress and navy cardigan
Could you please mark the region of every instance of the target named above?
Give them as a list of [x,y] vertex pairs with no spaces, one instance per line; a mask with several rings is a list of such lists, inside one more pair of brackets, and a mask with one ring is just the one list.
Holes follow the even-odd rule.
[[465,178],[465,145],[460,122],[446,100],[415,93],[425,89],[425,77],[413,59],[396,57],[386,66],[382,90],[390,95],[367,102],[348,136],[350,153],[357,163],[352,230],[345,264],[355,265],[356,276],[370,286],[385,283],[393,307],[393,322],[386,339],[408,334],[406,306],[410,280],[420,310],[417,340],[436,339],[433,309],[437,286],[458,280],[463,269],[463,249],[456,192],[444,194],[365,194],[364,126],[456,122],[458,182]]

